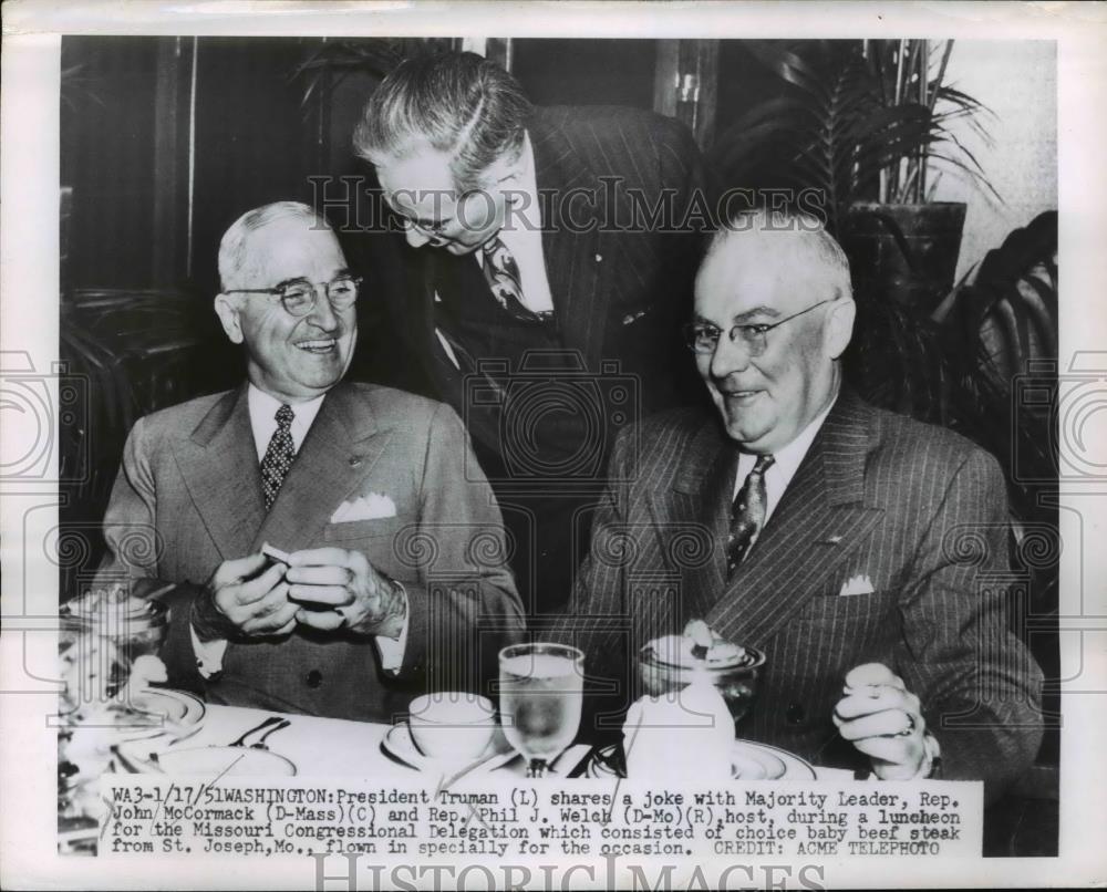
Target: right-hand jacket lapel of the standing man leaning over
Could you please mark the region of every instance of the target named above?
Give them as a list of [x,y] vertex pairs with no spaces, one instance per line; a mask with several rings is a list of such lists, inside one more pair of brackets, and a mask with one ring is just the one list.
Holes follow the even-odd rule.
[[[554,209],[550,219],[542,218],[542,253],[558,325],[565,345],[580,350],[594,366],[603,346],[614,268],[614,242],[600,225],[604,195],[596,174],[546,113],[538,110],[527,132],[539,200],[544,209]],[[566,196],[578,188],[587,195],[567,205]]]

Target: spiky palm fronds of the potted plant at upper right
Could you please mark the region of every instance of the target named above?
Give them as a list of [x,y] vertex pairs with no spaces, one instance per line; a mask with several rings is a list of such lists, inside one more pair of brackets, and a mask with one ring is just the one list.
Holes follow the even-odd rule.
[[745,45],[783,85],[716,142],[713,160],[728,184],[815,189],[835,234],[855,201],[929,200],[943,167],[999,199],[951,126],[964,120],[989,142],[991,112],[945,83],[952,40]]

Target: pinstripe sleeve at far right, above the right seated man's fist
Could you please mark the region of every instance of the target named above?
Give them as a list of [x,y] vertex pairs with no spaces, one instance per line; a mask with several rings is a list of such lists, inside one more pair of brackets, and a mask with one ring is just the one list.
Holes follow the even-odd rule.
[[1042,672],[1008,631],[1005,506],[999,465],[974,450],[914,556],[897,654],[941,744],[943,777],[983,779],[989,799],[1025,771],[1042,739]]

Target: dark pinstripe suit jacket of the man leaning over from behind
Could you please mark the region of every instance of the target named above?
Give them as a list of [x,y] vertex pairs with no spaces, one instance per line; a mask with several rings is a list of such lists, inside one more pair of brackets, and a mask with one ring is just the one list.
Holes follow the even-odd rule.
[[[703,186],[691,134],[672,118],[607,106],[536,108],[527,132],[544,203],[542,251],[561,345],[579,351],[590,372],[618,361],[621,374],[639,380],[646,411],[686,402],[686,391],[701,388],[677,331],[689,315],[700,237],[631,222],[635,200],[653,207],[666,196],[669,222],[683,218]],[[464,374],[434,335],[434,294],[438,288],[487,286],[483,276],[468,274],[475,263],[470,256],[424,247],[408,251],[408,260],[413,253],[420,279],[412,283],[414,299],[392,293],[393,315],[426,364],[435,395],[465,417]],[[496,431],[474,428],[472,434],[497,447]]]

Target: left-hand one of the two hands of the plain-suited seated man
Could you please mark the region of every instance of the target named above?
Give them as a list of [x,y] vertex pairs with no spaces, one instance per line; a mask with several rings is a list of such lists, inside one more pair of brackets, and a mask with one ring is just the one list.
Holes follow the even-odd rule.
[[284,566],[265,569],[268,563],[258,553],[219,564],[193,603],[192,624],[200,641],[286,635],[296,627],[299,604],[289,603]]

